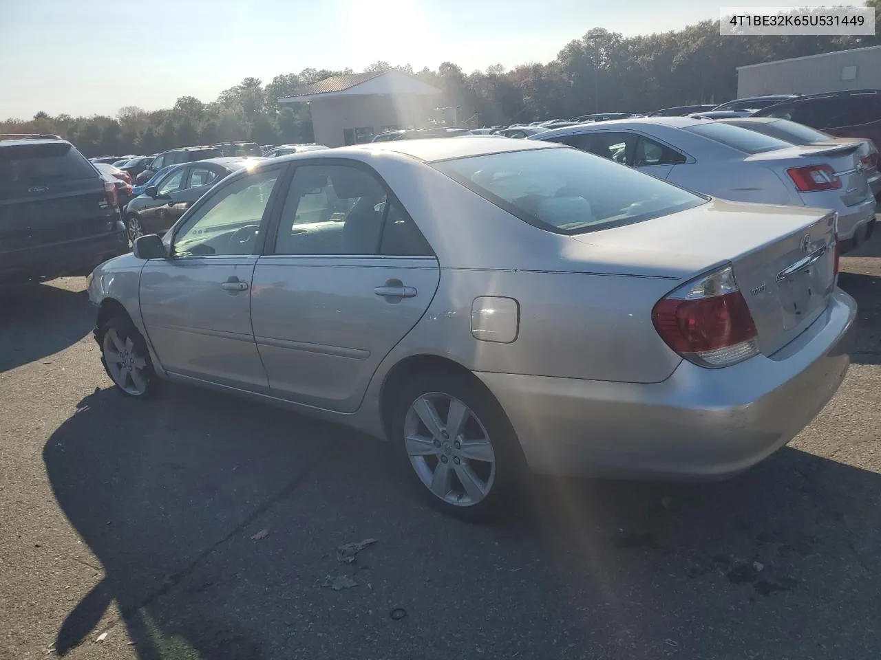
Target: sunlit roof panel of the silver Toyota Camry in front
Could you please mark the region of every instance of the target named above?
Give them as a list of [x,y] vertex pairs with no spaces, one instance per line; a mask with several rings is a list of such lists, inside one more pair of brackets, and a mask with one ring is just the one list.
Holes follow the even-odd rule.
[[[543,134],[544,135],[544,134]],[[496,136],[471,136],[470,140],[456,140],[447,137],[434,137],[425,140],[393,140],[390,142],[355,144],[337,149],[304,151],[272,158],[271,162],[300,160],[303,158],[344,158],[354,157],[364,160],[371,153],[389,152],[403,154],[411,158],[431,163],[450,158],[467,158],[485,156],[504,151],[525,151],[530,149],[547,149],[559,147],[559,144],[524,142],[523,140],[506,140]]]

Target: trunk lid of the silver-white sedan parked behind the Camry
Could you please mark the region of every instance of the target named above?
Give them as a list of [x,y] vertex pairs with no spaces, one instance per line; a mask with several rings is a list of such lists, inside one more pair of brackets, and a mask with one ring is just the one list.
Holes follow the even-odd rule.
[[855,206],[864,202],[866,195],[869,194],[869,182],[862,163],[862,157],[865,155],[868,155],[868,147],[866,153],[861,154],[860,143],[806,144],[790,149],[764,151],[746,160],[759,162],[774,169],[774,172],[793,188],[796,185],[788,175],[788,169],[807,165],[831,165],[841,180],[841,187],[825,191],[825,194],[835,194],[845,206]]

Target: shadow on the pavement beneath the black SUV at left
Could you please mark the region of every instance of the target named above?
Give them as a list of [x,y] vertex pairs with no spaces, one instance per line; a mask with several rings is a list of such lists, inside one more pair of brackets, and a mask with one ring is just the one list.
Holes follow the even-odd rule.
[[85,291],[29,284],[0,292],[0,373],[56,354],[85,337],[95,312]]

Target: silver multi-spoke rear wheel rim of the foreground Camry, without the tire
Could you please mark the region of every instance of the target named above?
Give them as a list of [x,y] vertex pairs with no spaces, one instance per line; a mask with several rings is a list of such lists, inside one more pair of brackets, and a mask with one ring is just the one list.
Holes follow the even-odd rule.
[[482,422],[463,401],[429,392],[413,401],[403,422],[403,444],[419,480],[455,506],[473,506],[489,495],[495,451]]

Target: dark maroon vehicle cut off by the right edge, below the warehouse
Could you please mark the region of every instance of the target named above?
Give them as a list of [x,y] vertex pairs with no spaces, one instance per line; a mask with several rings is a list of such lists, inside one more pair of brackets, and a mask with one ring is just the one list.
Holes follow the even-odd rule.
[[881,145],[881,90],[800,96],[752,116],[797,121],[832,136],[864,137]]

